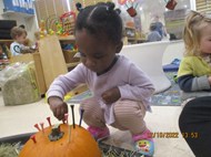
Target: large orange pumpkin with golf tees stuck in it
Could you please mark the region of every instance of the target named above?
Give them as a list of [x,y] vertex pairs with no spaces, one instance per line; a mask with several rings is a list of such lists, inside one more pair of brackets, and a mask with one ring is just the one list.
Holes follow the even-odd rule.
[[38,132],[36,142],[29,139],[19,157],[101,157],[97,142],[83,127],[61,124],[60,130],[63,135],[54,142],[49,139],[51,126]]

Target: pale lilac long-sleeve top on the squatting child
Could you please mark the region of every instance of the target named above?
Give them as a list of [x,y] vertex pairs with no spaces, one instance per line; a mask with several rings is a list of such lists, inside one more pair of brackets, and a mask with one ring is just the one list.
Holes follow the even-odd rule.
[[134,65],[129,59],[119,55],[115,64],[101,75],[87,69],[82,63],[72,71],[57,77],[48,90],[48,97],[63,96],[77,85],[86,83],[93,96],[99,100],[99,105],[104,108],[104,118],[108,124],[114,122],[113,105],[105,105],[101,95],[107,90],[119,87],[121,98],[141,101],[148,111],[150,97],[154,92],[154,86],[143,71]]

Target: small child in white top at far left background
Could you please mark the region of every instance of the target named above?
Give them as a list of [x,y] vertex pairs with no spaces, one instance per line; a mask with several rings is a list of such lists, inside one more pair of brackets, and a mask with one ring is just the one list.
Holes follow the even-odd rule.
[[29,49],[23,45],[27,38],[27,31],[24,29],[20,27],[14,27],[11,29],[10,35],[14,40],[14,42],[12,42],[10,45],[10,51],[12,55],[20,55],[21,50]]

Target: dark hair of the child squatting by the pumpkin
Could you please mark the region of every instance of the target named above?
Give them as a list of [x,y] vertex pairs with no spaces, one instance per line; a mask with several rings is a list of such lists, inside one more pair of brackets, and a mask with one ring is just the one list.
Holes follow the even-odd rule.
[[96,38],[105,35],[113,43],[122,40],[122,20],[114,3],[100,2],[81,9],[76,23],[76,31],[86,29]]

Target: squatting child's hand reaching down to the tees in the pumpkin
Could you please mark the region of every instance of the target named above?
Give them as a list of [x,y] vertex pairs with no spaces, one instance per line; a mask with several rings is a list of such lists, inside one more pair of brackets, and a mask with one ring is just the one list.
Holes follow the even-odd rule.
[[51,111],[53,115],[59,119],[64,118],[64,114],[68,113],[68,105],[57,96],[49,97],[48,100]]

